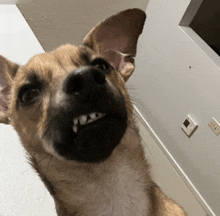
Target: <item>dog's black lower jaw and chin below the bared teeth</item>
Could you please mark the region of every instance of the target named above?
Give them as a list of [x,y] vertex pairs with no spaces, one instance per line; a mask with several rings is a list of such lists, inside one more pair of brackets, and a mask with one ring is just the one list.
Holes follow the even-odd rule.
[[67,160],[85,163],[105,161],[119,144],[127,128],[127,119],[114,115],[78,127],[62,127],[53,134],[56,153]]

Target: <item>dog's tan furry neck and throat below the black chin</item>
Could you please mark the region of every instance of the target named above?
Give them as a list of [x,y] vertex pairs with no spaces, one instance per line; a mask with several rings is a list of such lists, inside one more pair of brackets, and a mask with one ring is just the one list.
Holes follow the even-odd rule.
[[35,155],[34,166],[54,197],[59,216],[147,215],[145,188],[151,184],[147,164],[137,130],[128,127],[126,133],[129,136],[99,164]]

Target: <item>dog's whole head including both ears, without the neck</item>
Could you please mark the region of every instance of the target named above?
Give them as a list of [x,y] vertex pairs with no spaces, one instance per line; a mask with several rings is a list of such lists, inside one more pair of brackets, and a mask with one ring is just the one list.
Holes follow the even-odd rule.
[[111,155],[132,116],[125,81],[144,20],[142,11],[127,10],[96,26],[79,47],[61,46],[24,66],[0,59],[1,121],[10,121],[32,156],[97,163]]

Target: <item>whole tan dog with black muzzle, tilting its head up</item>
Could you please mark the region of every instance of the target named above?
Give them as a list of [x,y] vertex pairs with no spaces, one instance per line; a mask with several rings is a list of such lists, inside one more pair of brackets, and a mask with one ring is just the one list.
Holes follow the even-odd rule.
[[183,216],[151,180],[125,81],[139,9],[19,66],[0,58],[0,121],[18,132],[59,216]]

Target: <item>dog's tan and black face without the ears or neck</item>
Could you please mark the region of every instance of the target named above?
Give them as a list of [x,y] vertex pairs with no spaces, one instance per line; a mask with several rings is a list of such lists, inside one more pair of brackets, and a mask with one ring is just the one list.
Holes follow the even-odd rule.
[[126,130],[130,105],[122,77],[87,47],[66,45],[35,56],[19,69],[15,83],[13,125],[22,139],[36,145],[36,137],[50,153],[98,162]]

